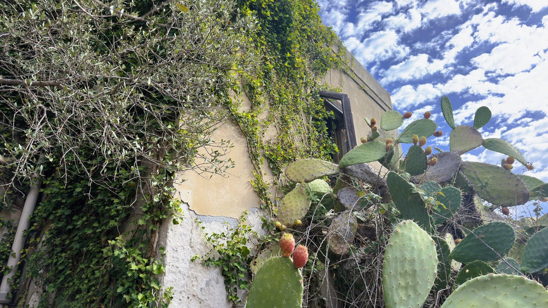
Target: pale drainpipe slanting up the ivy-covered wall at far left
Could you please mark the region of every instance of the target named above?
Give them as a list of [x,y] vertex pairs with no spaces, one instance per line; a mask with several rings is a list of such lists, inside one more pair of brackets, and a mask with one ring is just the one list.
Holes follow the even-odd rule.
[[[12,245],[12,254],[9,255],[8,267],[11,267],[12,270],[7,275],[4,275],[2,278],[2,283],[0,284],[0,304],[9,304],[12,302],[12,298],[8,298],[8,295],[12,293],[12,289],[9,284],[10,280],[15,272],[17,271],[18,263],[21,260],[21,250],[25,247],[25,237],[23,232],[28,229],[30,226],[30,216],[36,208],[36,202],[38,201],[38,194],[40,192],[41,181],[38,180],[35,185],[32,185],[28,191],[28,195],[25,199],[25,206],[21,211],[21,218],[19,219],[19,224],[17,225],[17,231],[15,231],[15,239],[13,240]],[[1,306],[0,306],[1,307]]]

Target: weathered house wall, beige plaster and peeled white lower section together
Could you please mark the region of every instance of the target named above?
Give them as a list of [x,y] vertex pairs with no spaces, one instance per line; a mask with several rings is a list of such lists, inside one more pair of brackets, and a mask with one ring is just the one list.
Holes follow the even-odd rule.
[[[375,79],[349,54],[353,64],[352,76],[338,70],[330,71],[325,81],[332,87],[343,85],[343,93],[349,96],[355,124],[357,144],[359,138],[367,136],[370,128],[363,117],[380,116],[386,110],[392,109],[390,95],[375,81]],[[249,104],[243,98],[244,107]],[[166,223],[162,226],[159,246],[164,247],[166,273],[162,277],[164,287],[172,286],[174,299],[170,307],[232,307],[226,300],[224,278],[219,269],[191,263],[192,256],[204,255],[211,247],[204,239],[204,233],[221,232],[227,225],[237,225],[239,216],[249,211],[248,222],[256,230],[260,230],[260,199],[253,190],[250,180],[253,179],[253,163],[249,157],[246,138],[239,128],[232,123],[224,124],[214,139],[231,139],[234,147],[228,153],[236,164],[230,169],[227,177],[220,175],[202,176],[185,174],[184,182],[176,184],[175,188],[183,206],[184,221],[180,225]],[[380,164],[379,166],[380,167]],[[272,173],[267,166],[266,181],[272,182]],[[202,221],[201,226],[194,221]]]

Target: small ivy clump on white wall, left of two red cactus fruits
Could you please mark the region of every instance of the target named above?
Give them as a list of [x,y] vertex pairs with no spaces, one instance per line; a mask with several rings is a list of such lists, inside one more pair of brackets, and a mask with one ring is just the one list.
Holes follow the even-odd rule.
[[[206,241],[213,246],[206,255],[195,255],[192,262],[199,260],[206,266],[218,266],[221,268],[222,276],[225,277],[226,293],[229,300],[235,303],[241,303],[238,297],[238,288],[247,290],[248,281],[246,274],[249,270],[249,264],[252,263],[253,256],[249,253],[247,246],[251,238],[258,237],[253,231],[252,226],[244,225],[247,213],[240,218],[240,223],[235,228],[228,227],[227,231],[221,233],[206,233]],[[201,221],[196,220],[198,224]],[[206,227],[202,226],[202,229]]]

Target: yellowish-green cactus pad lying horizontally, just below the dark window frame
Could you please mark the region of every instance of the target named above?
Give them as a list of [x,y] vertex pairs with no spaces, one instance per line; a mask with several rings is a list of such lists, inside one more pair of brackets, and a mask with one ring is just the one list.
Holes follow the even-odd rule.
[[336,164],[322,161],[316,158],[299,159],[286,169],[286,176],[289,180],[298,183],[307,183],[326,175],[339,173]]

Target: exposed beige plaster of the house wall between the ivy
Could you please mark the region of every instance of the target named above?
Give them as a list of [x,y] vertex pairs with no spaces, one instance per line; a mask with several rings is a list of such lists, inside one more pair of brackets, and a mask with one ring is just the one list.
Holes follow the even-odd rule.
[[[380,120],[386,110],[392,109],[390,95],[386,90],[363,68],[359,62],[349,53],[349,61],[352,64],[350,75],[339,70],[331,70],[324,77],[324,81],[333,88],[343,86],[343,93],[350,98],[352,116],[356,131],[356,142],[367,136],[370,128],[364,117],[375,117]],[[241,110],[250,106],[247,97],[239,98],[242,102]],[[265,107],[267,110],[267,107]],[[266,113],[266,112],[265,112]],[[267,128],[267,138],[275,136],[275,127]],[[260,199],[253,190],[250,180],[253,179],[252,170],[255,169],[251,158],[247,141],[242,131],[235,123],[225,123],[213,136],[214,140],[230,139],[234,147],[228,153],[236,164],[224,177],[221,175],[199,175],[186,173],[182,178],[186,179],[176,184],[182,201],[189,204],[191,210],[198,215],[226,216],[239,218],[245,210],[252,207],[260,207]],[[268,166],[262,166],[266,173],[265,180],[272,183],[272,172]],[[380,164],[374,167],[380,168]],[[275,193],[273,193],[274,195]]]

